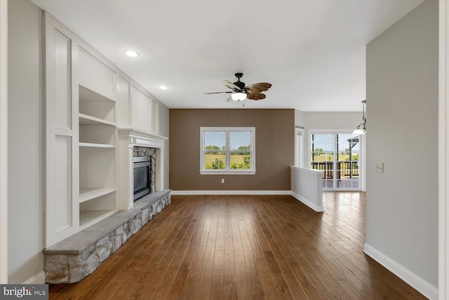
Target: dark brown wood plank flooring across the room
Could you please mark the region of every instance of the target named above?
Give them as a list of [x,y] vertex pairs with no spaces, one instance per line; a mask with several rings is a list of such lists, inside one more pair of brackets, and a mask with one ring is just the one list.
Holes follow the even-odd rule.
[[97,270],[50,299],[425,299],[363,254],[365,193],[172,196]]

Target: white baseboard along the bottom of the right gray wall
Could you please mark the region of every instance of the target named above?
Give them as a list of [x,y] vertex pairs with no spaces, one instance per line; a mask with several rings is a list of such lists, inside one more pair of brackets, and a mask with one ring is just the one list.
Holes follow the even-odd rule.
[[372,259],[390,270],[392,273],[394,273],[394,275],[398,276],[398,278],[401,278],[402,280],[407,282],[408,285],[416,289],[427,298],[431,300],[438,299],[438,289],[436,287],[431,285],[426,280],[420,278],[420,276],[411,272],[407,268],[404,268],[401,264],[389,258],[389,256],[370,246],[370,244],[365,243],[363,252],[365,252],[366,255],[370,256]]

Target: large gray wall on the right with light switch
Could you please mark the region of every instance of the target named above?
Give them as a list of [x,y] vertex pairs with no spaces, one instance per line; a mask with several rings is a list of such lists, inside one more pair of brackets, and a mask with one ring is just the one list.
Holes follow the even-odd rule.
[[437,287],[438,1],[368,44],[366,58],[366,242]]

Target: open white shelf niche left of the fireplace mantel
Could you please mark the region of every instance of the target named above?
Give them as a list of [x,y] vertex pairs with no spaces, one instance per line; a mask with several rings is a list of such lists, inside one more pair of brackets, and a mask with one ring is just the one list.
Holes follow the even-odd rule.
[[116,101],[79,85],[79,227],[116,211]]

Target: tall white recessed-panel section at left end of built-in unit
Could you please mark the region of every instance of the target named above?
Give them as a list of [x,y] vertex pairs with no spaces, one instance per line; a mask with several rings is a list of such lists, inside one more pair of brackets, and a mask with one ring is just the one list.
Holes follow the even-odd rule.
[[[72,32],[47,12],[45,27],[45,247],[50,247],[79,230],[79,94],[78,89],[72,89],[72,86],[77,86],[77,46]],[[62,101],[65,104],[62,105]],[[62,116],[57,120],[56,116],[60,114]]]

